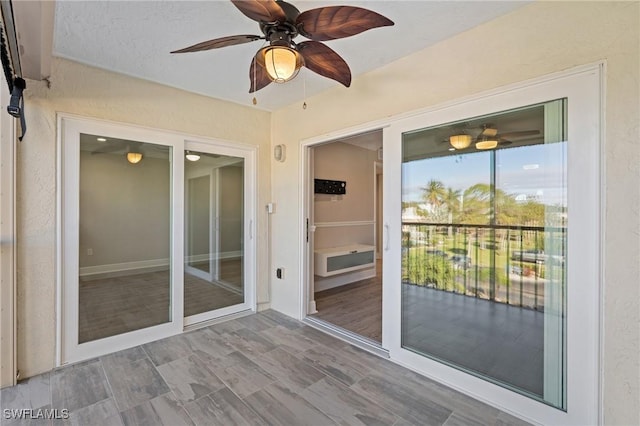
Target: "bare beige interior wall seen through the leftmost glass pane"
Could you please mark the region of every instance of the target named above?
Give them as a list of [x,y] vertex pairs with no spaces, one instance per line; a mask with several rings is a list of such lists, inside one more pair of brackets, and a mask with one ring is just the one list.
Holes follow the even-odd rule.
[[81,151],[81,275],[89,266],[168,262],[170,175],[168,158],[130,164],[122,154]]

